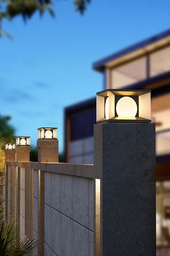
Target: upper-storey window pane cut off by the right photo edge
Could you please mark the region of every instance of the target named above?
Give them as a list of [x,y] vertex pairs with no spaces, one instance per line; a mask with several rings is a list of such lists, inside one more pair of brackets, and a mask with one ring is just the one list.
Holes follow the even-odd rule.
[[150,55],[150,77],[170,71],[170,46]]

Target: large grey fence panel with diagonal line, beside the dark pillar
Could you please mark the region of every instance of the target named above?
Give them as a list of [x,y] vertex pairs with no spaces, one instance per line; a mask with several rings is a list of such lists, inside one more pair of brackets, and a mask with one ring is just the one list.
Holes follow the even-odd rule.
[[94,255],[94,179],[45,172],[45,256]]

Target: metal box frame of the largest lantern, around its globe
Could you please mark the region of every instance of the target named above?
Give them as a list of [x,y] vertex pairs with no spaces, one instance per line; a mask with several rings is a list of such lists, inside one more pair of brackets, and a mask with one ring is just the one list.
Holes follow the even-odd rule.
[[[133,98],[137,105],[135,116],[118,116],[117,103],[123,97]],[[109,101],[107,102],[107,98]],[[105,108],[108,108],[108,116]],[[113,122],[151,122],[151,90],[103,90],[97,93],[97,123],[103,121]]]

